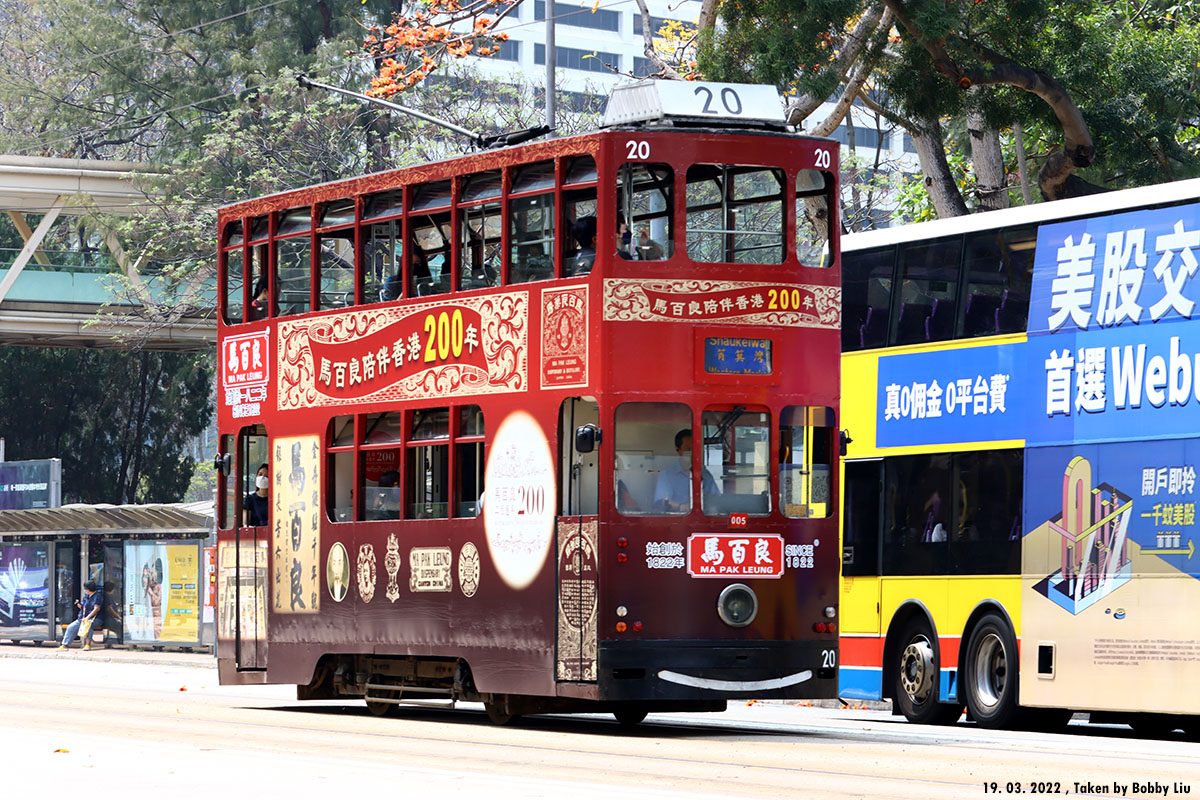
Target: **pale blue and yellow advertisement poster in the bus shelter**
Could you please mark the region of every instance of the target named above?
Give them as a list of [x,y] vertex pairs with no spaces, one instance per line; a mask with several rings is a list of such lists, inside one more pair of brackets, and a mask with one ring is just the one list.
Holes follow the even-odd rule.
[[199,642],[198,545],[125,542],[126,644]]

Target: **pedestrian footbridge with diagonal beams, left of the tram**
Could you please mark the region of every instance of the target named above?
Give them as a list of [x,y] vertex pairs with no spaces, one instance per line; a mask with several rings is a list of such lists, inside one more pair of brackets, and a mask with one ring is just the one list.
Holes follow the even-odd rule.
[[[144,266],[106,223],[108,215],[127,215],[148,203],[134,180],[145,172],[144,164],[130,162],[0,156],[0,209],[24,241],[20,248],[0,247],[0,344],[133,343],[155,350],[212,345],[214,278],[180,287]],[[98,246],[43,247],[64,217],[78,218]],[[181,289],[191,301],[181,312],[156,311]]]

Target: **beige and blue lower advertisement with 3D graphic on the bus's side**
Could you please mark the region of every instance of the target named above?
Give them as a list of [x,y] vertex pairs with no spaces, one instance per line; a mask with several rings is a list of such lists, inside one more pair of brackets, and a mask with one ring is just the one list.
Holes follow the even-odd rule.
[[1022,703],[1200,711],[1198,464],[1200,439],[1026,452]]

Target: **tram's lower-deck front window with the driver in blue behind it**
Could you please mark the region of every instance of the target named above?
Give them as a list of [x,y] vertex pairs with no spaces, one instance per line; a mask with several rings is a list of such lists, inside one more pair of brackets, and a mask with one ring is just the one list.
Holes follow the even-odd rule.
[[632,515],[691,511],[691,409],[682,403],[622,403],[613,437],[617,510]]

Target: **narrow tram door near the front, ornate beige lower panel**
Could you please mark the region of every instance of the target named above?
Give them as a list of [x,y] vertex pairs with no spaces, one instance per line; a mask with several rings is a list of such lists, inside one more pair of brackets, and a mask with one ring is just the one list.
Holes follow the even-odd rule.
[[575,432],[599,428],[595,398],[563,401],[558,422],[559,509],[556,530],[558,554],[558,619],[556,678],[564,681],[596,679],[596,540],[599,534],[600,447],[577,447]]

